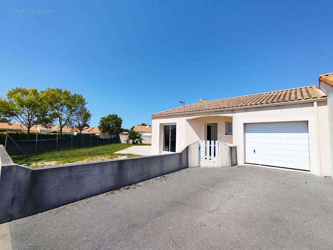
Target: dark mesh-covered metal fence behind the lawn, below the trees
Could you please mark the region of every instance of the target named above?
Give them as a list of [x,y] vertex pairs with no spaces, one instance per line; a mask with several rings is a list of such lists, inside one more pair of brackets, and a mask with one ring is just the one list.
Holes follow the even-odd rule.
[[96,147],[112,143],[120,143],[119,135],[107,139],[90,134],[66,135],[66,137],[60,137],[57,135],[55,139],[38,140],[37,133],[35,140],[14,140],[7,133],[5,149],[9,156],[21,156],[61,149]]

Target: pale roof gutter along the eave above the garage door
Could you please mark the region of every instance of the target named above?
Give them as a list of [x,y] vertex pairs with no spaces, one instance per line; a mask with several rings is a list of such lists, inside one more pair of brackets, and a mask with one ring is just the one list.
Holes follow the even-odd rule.
[[152,115],[151,118],[153,119],[154,117],[164,117],[164,116],[173,116],[173,115],[200,114],[200,113],[207,113],[207,112],[228,111],[228,110],[237,110],[237,109],[283,106],[283,105],[292,105],[292,104],[309,103],[309,102],[322,102],[322,101],[326,101],[326,100],[327,100],[327,97],[321,97],[321,98],[314,98],[314,99],[306,99],[306,100],[298,100],[298,101],[290,101],[290,102],[278,102],[278,103],[269,103],[269,104],[259,104],[259,105],[251,105],[251,106],[241,106],[241,107],[234,107],[234,108],[210,109],[210,110],[200,110],[200,111],[182,112],[182,113],[174,113],[174,114]]

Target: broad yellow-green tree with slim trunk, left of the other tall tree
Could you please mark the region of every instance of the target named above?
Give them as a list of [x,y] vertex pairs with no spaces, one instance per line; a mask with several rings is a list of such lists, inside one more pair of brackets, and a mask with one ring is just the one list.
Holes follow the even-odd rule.
[[8,91],[6,97],[7,100],[0,99],[0,114],[23,124],[27,128],[27,140],[32,126],[52,124],[46,100],[37,89],[15,88]]

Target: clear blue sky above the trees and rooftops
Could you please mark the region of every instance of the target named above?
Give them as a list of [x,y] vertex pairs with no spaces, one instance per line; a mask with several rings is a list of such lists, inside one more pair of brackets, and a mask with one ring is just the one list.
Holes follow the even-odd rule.
[[[186,104],[317,85],[333,72],[333,2],[7,1],[0,96],[15,87],[82,94],[123,127]],[[6,13],[6,8],[54,13]],[[15,10],[14,10],[15,11]]]

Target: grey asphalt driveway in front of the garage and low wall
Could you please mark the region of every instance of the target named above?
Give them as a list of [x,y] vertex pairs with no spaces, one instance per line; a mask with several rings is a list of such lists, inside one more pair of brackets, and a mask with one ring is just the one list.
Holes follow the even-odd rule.
[[332,190],[305,173],[184,169],[13,221],[13,247],[333,249]]

